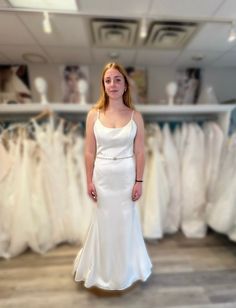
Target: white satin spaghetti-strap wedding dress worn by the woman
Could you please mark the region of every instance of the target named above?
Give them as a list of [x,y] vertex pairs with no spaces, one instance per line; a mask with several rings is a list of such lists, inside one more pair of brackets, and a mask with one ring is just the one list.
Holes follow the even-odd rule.
[[136,131],[133,113],[125,126],[108,128],[101,123],[98,112],[93,171],[97,204],[73,268],[75,281],[84,281],[87,288],[122,290],[151,274],[138,208],[132,201]]

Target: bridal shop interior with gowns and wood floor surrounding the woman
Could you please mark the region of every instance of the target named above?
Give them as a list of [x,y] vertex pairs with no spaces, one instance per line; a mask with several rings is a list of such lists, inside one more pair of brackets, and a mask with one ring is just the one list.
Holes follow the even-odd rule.
[[[153,262],[113,293],[71,275],[108,62],[145,124],[137,207]],[[0,306],[235,308],[235,81],[235,0],[0,0]]]

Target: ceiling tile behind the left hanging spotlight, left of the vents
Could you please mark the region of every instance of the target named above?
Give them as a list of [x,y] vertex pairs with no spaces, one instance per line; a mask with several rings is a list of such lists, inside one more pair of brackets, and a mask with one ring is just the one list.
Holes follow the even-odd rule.
[[53,30],[51,34],[43,31],[41,14],[22,13],[20,18],[40,45],[88,47],[90,44],[89,27],[86,26],[86,20],[83,17],[50,15]]

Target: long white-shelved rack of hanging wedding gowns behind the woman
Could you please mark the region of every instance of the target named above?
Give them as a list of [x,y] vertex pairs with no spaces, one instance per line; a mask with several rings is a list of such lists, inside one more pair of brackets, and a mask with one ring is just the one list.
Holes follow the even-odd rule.
[[[14,114],[18,114],[18,120],[27,125],[31,123],[30,118],[45,108],[35,105],[0,106],[0,121],[9,121],[9,126],[15,125]],[[146,239],[161,239],[166,233],[182,229],[186,236],[203,237],[207,225],[210,225],[236,241],[233,207],[236,179],[233,174],[229,176],[229,168],[236,168],[236,155],[233,155],[236,138],[232,137],[230,141],[226,138],[227,119],[232,106],[216,106],[215,110],[212,106],[182,107],[137,106],[146,122],[147,167],[143,197],[137,204],[143,235]],[[53,112],[59,117],[77,118],[83,122],[89,109],[90,106],[53,105]],[[156,114],[153,114],[155,110]],[[195,113],[195,121],[191,123]],[[155,117],[157,114],[159,117]],[[171,116],[173,121],[178,120],[181,125],[172,131],[171,121],[167,121],[161,128],[158,120],[170,119],[167,116]],[[196,122],[204,122],[203,117],[206,122],[197,125]],[[155,121],[152,122],[152,119]],[[213,119],[214,122],[211,121]],[[0,142],[1,161],[5,162],[5,169],[0,170],[2,257],[17,256],[27,247],[37,253],[45,253],[61,242],[83,242],[94,206],[86,192],[84,138],[81,134],[73,134],[71,138],[70,132],[65,132],[61,123],[59,121],[55,127],[49,123],[34,123],[34,138],[21,136],[21,139],[8,140],[8,152]],[[212,139],[214,134],[218,135],[217,139]],[[203,141],[207,142],[206,146]],[[217,155],[212,156],[212,153]],[[196,154],[200,156],[196,157]],[[221,187],[221,182],[216,181],[219,172],[228,184],[224,187],[229,188],[227,191],[218,189],[215,194],[214,187]],[[189,178],[195,179],[195,182]],[[198,191],[193,190],[196,181],[202,185],[198,186]],[[193,186],[189,187],[189,183]],[[55,192],[59,192],[58,195]],[[227,197],[226,192],[228,203],[222,201]],[[223,216],[225,206],[227,217]],[[194,216],[196,212],[201,213],[201,217]]]

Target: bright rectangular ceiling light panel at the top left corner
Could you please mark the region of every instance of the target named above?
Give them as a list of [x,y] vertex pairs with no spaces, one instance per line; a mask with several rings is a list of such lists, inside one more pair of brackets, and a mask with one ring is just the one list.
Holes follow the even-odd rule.
[[39,10],[78,11],[76,0],[8,0],[13,7]]

